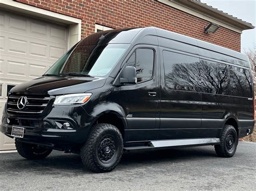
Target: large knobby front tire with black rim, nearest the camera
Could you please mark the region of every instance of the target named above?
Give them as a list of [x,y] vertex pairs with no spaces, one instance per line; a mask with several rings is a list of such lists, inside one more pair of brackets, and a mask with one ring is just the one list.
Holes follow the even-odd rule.
[[92,127],[81,147],[80,157],[86,168],[101,173],[112,171],[118,165],[122,153],[123,138],[120,131],[114,125],[99,123]]

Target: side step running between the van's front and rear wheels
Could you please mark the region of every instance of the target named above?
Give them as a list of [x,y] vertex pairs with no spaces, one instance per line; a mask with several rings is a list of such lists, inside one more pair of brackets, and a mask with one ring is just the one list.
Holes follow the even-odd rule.
[[216,145],[219,143],[220,143],[219,138],[154,140],[154,141],[149,142],[149,146],[131,146],[131,147],[124,147],[124,149],[125,150],[140,150],[140,149],[163,148],[163,147]]

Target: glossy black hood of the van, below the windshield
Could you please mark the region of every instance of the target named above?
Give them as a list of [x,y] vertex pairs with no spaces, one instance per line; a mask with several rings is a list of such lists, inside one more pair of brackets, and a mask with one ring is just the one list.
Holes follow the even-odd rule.
[[106,79],[99,77],[55,77],[42,76],[24,82],[11,89],[10,93],[31,95],[62,95],[84,93],[100,88]]

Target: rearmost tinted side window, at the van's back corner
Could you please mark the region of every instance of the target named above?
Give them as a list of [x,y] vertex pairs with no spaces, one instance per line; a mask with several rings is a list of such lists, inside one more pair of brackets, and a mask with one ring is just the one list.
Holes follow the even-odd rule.
[[230,66],[230,95],[252,97],[252,82],[247,69]]

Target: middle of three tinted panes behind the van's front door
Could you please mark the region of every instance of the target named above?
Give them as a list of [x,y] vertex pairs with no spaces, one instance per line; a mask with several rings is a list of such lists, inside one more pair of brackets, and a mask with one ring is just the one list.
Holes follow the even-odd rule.
[[228,95],[230,84],[228,65],[200,60],[200,68],[202,92]]

